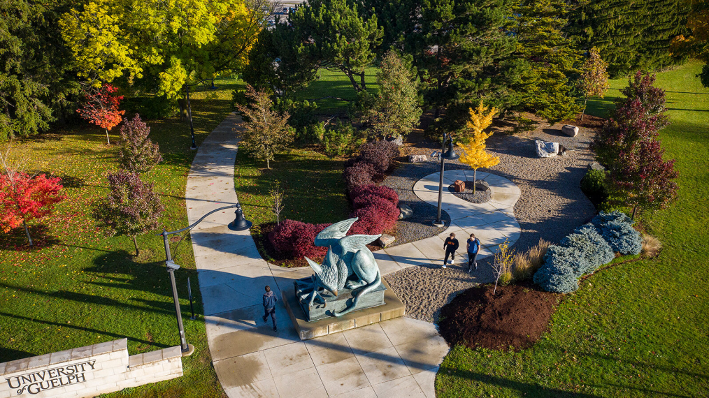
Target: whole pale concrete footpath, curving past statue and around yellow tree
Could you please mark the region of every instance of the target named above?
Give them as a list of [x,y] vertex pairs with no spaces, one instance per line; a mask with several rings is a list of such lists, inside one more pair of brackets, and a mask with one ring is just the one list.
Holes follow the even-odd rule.
[[[238,140],[233,129],[240,122],[238,115],[229,115],[204,140],[194,158],[185,194],[190,223],[238,201],[233,185]],[[449,173],[446,176],[454,177],[454,171]],[[436,176],[416,184],[417,195],[425,201],[432,200],[432,186],[437,190]],[[491,186],[515,193],[516,187],[509,186],[509,181],[486,177],[496,183]],[[490,239],[484,239],[490,244],[501,239],[498,232],[511,239],[515,226],[518,237],[519,226],[511,212],[518,191],[514,199],[501,193],[508,194],[500,191],[493,195],[500,207],[493,203],[484,208],[470,207],[473,204],[463,200],[458,203],[458,198],[445,193],[443,208],[452,213],[453,220],[445,234],[484,221],[475,225],[475,231],[481,234],[481,226],[489,225],[484,229],[489,229]],[[495,217],[501,216],[493,213],[509,217],[497,220]],[[270,285],[280,297],[281,289],[292,288],[292,280],[310,275],[311,270],[267,263],[248,231],[227,228],[233,218],[233,211],[218,212],[191,231],[209,350],[229,397],[435,397],[435,375],[448,346],[434,324],[401,317],[301,341],[282,302],[277,306],[278,331],[273,331],[270,323],[264,324],[260,319],[264,286]],[[382,273],[439,258],[442,240],[434,247],[434,238],[440,239],[377,251]]]

